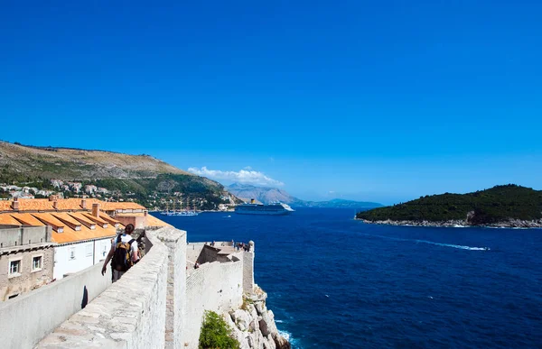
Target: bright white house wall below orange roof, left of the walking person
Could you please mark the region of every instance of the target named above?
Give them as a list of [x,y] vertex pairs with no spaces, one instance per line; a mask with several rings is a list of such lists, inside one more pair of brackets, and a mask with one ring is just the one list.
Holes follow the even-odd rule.
[[[111,239],[89,241],[86,243],[63,244],[54,248],[54,267],[52,277],[61,280],[70,274],[89,268],[104,261],[111,248]],[[73,252],[74,258],[71,258]],[[104,254],[105,252],[105,254]]]

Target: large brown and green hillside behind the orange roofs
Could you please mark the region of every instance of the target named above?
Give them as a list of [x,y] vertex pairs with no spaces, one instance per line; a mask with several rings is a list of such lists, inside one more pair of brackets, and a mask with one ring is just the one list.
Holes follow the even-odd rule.
[[[61,180],[64,185],[54,186],[51,179]],[[70,182],[77,182],[79,187],[68,188],[65,184]],[[156,209],[187,206],[217,209],[220,204],[230,204],[229,197],[240,202],[237,197],[229,196],[220,183],[177,169],[150,155],[9,142],[0,142],[0,184],[53,191],[63,197],[88,195],[134,201]],[[87,186],[102,191],[89,192]],[[10,194],[0,189],[0,197]]]

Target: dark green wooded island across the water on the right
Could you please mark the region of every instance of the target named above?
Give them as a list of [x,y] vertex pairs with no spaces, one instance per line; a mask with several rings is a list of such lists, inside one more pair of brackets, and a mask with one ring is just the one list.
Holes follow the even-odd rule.
[[359,212],[356,219],[391,225],[542,226],[542,191],[515,184],[467,194],[425,196]]

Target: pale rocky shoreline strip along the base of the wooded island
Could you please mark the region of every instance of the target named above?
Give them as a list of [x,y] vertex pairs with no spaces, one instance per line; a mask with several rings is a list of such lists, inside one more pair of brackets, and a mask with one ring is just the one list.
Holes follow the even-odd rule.
[[394,221],[387,219],[384,221],[369,221],[367,219],[358,219],[363,223],[370,225],[403,225],[403,226],[441,226],[441,227],[492,227],[492,228],[542,228],[542,219],[539,220],[521,220],[521,219],[509,219],[508,221],[502,221],[497,223],[491,223],[486,225],[473,225],[466,220],[450,220],[444,222],[432,222],[432,221]]

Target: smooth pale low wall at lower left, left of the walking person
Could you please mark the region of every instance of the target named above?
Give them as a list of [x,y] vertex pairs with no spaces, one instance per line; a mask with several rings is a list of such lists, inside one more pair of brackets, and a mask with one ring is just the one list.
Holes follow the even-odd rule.
[[[52,261],[51,261],[52,262]],[[33,348],[87,302],[111,284],[111,272],[101,275],[101,265],[42,286],[0,303],[0,344],[3,348]]]

